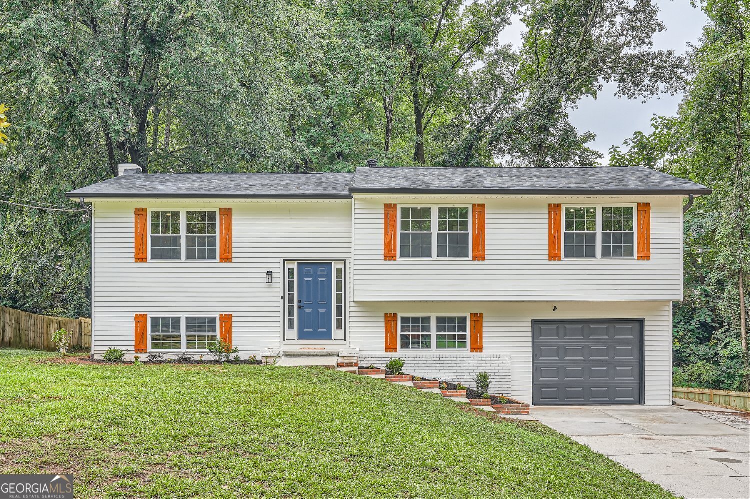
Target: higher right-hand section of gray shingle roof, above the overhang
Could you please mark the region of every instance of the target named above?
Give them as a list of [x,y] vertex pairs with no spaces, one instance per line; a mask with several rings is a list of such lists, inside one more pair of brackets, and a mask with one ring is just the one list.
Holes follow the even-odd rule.
[[711,194],[644,167],[358,168],[350,192],[402,194]]

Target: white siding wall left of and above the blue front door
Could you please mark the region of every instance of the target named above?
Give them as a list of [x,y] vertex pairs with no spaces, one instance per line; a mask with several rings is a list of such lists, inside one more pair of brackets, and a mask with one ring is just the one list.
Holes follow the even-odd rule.
[[[233,209],[233,263],[133,262],[134,209]],[[133,314],[233,314],[242,354],[281,341],[284,259],[348,260],[349,201],[95,203],[93,353],[133,352]],[[274,284],[266,284],[266,271]]]

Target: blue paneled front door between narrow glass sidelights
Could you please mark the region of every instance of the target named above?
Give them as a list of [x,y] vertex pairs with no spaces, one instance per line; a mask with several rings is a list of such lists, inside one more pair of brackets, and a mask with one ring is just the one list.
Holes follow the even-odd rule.
[[298,263],[298,338],[333,339],[333,263]]

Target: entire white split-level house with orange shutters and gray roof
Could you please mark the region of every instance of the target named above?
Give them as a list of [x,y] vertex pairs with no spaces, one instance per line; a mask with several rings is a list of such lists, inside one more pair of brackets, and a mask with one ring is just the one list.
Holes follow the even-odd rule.
[[[92,355],[359,365],[533,404],[670,404],[682,205],[642,167],[123,175],[92,203]],[[469,386],[472,386],[469,384]]]

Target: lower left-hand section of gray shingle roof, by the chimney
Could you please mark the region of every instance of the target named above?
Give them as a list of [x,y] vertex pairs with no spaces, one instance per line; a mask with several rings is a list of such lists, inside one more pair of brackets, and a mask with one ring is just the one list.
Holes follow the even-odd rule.
[[148,173],[124,175],[68,197],[349,198],[354,173]]

